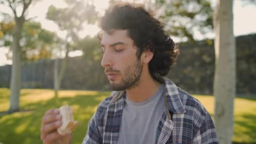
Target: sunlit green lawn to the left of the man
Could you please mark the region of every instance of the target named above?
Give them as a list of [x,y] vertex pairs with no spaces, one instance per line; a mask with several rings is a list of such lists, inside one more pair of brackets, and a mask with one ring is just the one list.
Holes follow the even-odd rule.
[[[105,95],[106,94],[106,95]],[[4,144],[40,144],[41,119],[48,109],[69,104],[73,108],[74,119],[79,121],[78,128],[73,132],[72,144],[80,144],[87,132],[87,124],[99,102],[109,93],[96,95],[76,95],[30,103],[21,109],[35,109],[27,112],[16,112],[0,117],[0,140]]]

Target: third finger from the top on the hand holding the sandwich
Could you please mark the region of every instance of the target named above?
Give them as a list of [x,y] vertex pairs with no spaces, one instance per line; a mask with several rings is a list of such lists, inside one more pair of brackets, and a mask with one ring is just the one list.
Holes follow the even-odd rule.
[[45,137],[51,133],[52,131],[56,131],[57,128],[59,128],[61,126],[61,121],[56,121],[53,123],[49,123],[47,125],[44,125],[41,128],[41,139],[45,139]]

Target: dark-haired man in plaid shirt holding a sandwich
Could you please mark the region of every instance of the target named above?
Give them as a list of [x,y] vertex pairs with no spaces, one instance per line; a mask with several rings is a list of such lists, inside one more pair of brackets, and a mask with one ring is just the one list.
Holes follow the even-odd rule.
[[[217,144],[207,110],[164,77],[179,50],[163,24],[142,6],[121,3],[100,26],[101,65],[114,92],[99,104],[83,144]],[[45,144],[71,141],[56,132],[58,113],[51,109],[42,120]]]

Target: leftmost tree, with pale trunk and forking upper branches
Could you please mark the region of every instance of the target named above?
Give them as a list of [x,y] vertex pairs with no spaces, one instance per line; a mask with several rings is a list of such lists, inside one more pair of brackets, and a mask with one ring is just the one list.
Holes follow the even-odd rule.
[[[35,3],[37,1],[38,0],[0,0],[0,4],[11,8],[13,12],[13,21],[15,22],[15,27],[12,32],[13,42],[11,45],[13,51],[13,64],[11,67],[10,108],[8,110],[10,113],[19,111],[19,96],[21,88],[21,32],[24,21],[26,21],[26,12],[29,5],[31,5],[32,2]],[[19,10],[21,10],[21,14],[18,16],[17,11]],[[2,11],[1,13],[8,15]]]

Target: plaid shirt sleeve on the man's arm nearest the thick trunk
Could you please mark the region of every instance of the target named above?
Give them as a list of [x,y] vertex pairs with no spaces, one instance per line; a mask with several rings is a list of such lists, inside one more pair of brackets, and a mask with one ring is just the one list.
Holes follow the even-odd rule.
[[192,144],[219,144],[213,120],[208,113],[199,131],[194,135]]

